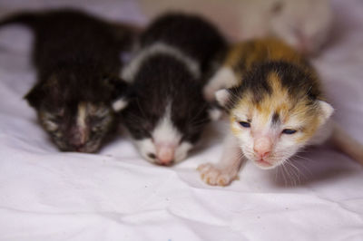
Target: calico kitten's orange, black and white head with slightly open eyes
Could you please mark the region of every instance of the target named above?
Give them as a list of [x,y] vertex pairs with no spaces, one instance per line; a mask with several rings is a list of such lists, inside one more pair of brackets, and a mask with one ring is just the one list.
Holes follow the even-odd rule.
[[314,74],[289,63],[265,63],[240,86],[216,92],[230,114],[244,157],[272,169],[309,143],[333,112]]

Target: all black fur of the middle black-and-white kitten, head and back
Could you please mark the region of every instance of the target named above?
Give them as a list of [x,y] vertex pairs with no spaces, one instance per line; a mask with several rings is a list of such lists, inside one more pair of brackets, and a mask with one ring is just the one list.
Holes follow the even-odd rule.
[[153,43],[167,43],[201,66],[196,79],[177,58],[153,54],[142,63],[132,82],[134,98],[123,111],[123,118],[133,138],[150,138],[168,104],[172,122],[182,133],[182,141],[196,142],[209,121],[207,103],[202,97],[206,75],[211,63],[225,49],[226,42],[208,22],[195,15],[167,14],[156,19],[142,34],[141,50]]

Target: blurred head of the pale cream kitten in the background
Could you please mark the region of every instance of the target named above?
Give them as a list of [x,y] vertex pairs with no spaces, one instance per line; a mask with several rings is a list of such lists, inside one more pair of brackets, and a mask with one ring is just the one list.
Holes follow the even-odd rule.
[[332,26],[330,0],[277,0],[270,29],[301,53],[317,53],[328,41]]

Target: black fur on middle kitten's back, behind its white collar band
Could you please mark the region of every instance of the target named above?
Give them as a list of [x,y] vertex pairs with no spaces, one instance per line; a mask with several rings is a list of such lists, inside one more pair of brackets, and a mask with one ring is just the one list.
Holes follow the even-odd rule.
[[155,19],[141,37],[142,48],[155,43],[168,43],[201,64],[201,72],[210,72],[211,64],[227,48],[216,28],[193,14],[165,14]]

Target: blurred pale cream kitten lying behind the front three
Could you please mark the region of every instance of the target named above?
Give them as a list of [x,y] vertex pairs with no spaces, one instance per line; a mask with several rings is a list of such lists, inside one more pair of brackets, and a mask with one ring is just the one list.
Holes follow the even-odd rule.
[[330,0],[139,0],[155,16],[178,10],[202,14],[233,41],[273,34],[301,53],[318,53],[329,40]]

